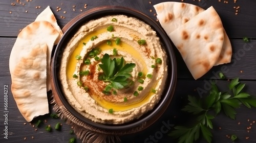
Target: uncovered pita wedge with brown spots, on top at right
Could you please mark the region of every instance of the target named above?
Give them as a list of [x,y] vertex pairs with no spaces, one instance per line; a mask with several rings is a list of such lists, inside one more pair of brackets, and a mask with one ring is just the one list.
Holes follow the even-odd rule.
[[194,79],[202,77],[215,65],[224,40],[222,22],[213,7],[199,13],[168,35]]

